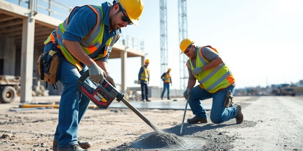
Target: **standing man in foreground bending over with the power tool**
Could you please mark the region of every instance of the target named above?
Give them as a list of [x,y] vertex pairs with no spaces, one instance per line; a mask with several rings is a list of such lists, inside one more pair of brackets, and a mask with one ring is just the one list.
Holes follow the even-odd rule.
[[[112,46],[117,42],[122,27],[135,24],[143,11],[142,0],[116,0],[101,6],[75,7],[44,42],[44,51],[60,49],[64,54],[59,81],[63,84],[58,126],[53,150],[87,151],[91,142],[78,140],[78,124],[90,100],[78,90],[77,80],[89,69],[89,78],[102,83],[106,78],[115,82],[107,67]],[[59,51],[60,51],[59,50]],[[92,84],[86,79],[88,84]]]

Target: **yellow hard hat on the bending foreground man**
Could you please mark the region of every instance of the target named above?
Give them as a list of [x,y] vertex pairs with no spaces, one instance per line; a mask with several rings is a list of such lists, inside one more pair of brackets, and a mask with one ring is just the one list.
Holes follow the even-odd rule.
[[142,14],[144,3],[143,0],[116,0],[116,3],[120,3],[128,14],[128,18],[136,26],[139,26],[139,17]]

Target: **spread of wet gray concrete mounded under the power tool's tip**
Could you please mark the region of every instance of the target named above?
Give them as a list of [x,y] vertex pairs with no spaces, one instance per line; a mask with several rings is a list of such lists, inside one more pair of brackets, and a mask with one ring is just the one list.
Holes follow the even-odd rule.
[[[133,142],[101,151],[228,151],[234,146],[232,142],[239,139],[238,135],[229,136],[225,128],[254,127],[256,122],[244,121],[235,124],[235,121],[226,121],[223,124],[185,124],[183,135],[178,136],[180,125],[165,129],[163,133],[144,134]],[[225,131],[222,131],[224,127]],[[147,135],[147,137],[145,137]]]

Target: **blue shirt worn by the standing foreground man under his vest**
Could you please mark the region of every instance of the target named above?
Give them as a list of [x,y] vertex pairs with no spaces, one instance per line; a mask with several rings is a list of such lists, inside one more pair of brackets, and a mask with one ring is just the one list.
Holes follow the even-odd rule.
[[[88,55],[91,58],[94,58],[98,56],[99,54],[104,54],[104,48],[106,41],[113,36],[116,36],[117,34],[121,34],[121,29],[118,30],[111,30],[109,27],[109,8],[111,6],[110,3],[105,2],[101,4],[102,10],[103,10],[103,23],[104,23],[104,33],[103,33],[103,40],[102,40],[102,46],[99,47],[98,50],[96,50],[95,53]],[[102,16],[100,16],[99,19],[102,19]],[[75,8],[70,16],[68,17],[68,26],[66,28],[66,31],[63,34],[62,39],[70,40],[70,41],[77,41],[80,42],[86,35],[88,35],[97,24],[97,14],[94,12],[92,8],[85,5],[82,7]],[[119,36],[120,37],[120,36]],[[118,39],[119,39],[118,37]],[[115,41],[115,43],[118,41],[118,39]],[[98,60],[102,61],[108,61],[109,53],[112,51],[112,49],[108,50],[108,53],[105,57],[99,58]]]

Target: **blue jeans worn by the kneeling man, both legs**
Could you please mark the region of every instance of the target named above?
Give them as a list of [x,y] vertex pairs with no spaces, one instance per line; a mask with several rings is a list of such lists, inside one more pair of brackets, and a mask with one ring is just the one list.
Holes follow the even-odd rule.
[[225,89],[217,91],[216,93],[209,93],[199,85],[195,86],[191,89],[190,98],[188,100],[192,113],[198,117],[207,118],[206,111],[200,100],[212,98],[210,119],[213,123],[219,124],[235,118],[238,113],[237,108],[235,106],[231,106],[229,108],[225,108],[223,106],[227,90],[230,90],[231,94],[233,94],[235,92],[235,86],[231,85]]

